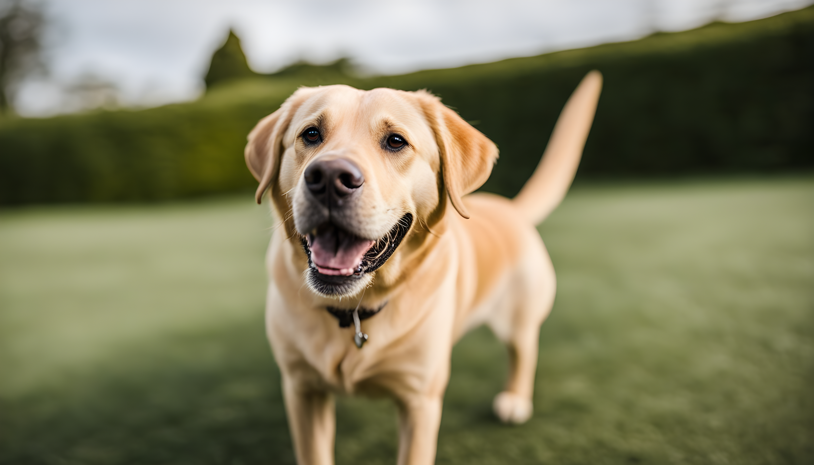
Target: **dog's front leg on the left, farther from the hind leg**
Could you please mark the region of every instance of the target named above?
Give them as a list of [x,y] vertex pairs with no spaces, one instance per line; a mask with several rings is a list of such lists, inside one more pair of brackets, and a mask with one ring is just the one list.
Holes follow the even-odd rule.
[[288,425],[300,465],[334,463],[336,410],[334,396],[326,390],[283,381]]

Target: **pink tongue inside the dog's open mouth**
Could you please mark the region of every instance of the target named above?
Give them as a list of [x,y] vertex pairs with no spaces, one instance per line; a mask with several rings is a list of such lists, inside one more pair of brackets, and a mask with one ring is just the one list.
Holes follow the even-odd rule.
[[311,261],[322,274],[350,276],[361,264],[373,241],[329,228],[320,235],[309,235]]

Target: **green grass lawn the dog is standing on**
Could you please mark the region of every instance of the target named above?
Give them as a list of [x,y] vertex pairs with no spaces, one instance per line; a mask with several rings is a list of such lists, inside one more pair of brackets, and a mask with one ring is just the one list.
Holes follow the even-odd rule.
[[[265,206],[0,212],[0,463],[293,463],[262,326]],[[535,415],[453,353],[438,463],[814,463],[814,178],[577,186]],[[388,401],[340,399],[339,464],[395,463]]]

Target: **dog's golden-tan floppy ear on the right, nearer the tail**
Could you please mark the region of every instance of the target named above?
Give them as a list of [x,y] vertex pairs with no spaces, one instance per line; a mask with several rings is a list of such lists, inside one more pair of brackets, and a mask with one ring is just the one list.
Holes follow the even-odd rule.
[[482,186],[497,161],[497,146],[461,116],[426,90],[415,93],[435,134],[441,157],[441,175],[449,200],[468,218],[461,197]]

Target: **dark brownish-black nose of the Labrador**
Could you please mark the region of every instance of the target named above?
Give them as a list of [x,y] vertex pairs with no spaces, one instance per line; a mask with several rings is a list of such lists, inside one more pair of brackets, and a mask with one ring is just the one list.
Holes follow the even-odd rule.
[[351,160],[317,160],[305,169],[305,186],[322,204],[341,206],[365,183],[361,170]]

